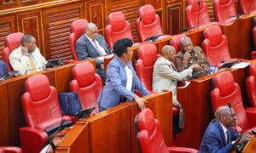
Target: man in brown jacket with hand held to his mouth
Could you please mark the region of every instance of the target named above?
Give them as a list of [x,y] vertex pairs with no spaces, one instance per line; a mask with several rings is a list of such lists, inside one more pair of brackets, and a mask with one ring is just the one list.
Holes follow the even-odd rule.
[[200,65],[193,72],[194,78],[204,77],[210,73],[209,62],[201,47],[193,46],[189,37],[182,37],[180,40],[180,52],[176,55],[177,71],[183,71],[190,65]]

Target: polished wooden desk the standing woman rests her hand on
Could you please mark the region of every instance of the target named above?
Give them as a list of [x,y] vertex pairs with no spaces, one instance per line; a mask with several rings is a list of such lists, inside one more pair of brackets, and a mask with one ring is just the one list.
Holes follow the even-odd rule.
[[[154,116],[160,120],[162,133],[166,144],[172,144],[172,93],[153,94],[146,96],[147,107],[154,111]],[[97,113],[85,119],[87,127],[81,129],[80,134],[72,129],[67,133],[61,144],[58,145],[56,152],[73,153],[72,148],[76,145],[84,150],[90,145],[90,152],[93,153],[112,153],[112,152],[137,152],[137,134],[135,133],[134,119],[139,109],[137,103],[123,103],[111,109]],[[77,126],[77,123],[74,127]],[[86,131],[85,131],[86,130]],[[85,131],[85,132],[84,132]],[[73,137],[71,138],[71,136]],[[84,143],[79,143],[78,139],[83,139]],[[88,142],[89,139],[89,142]],[[74,147],[73,147],[74,148]],[[76,150],[79,153],[82,151]],[[87,152],[88,150],[84,151]]]

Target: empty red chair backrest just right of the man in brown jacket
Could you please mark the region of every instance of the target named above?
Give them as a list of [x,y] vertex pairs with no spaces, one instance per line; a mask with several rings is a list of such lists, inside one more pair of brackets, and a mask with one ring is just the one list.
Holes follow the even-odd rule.
[[207,27],[202,48],[212,65],[218,66],[222,61],[230,60],[228,39],[219,26]]

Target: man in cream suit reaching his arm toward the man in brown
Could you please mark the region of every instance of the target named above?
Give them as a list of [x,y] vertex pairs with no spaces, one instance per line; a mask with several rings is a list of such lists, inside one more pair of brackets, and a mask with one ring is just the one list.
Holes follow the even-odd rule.
[[191,65],[189,69],[177,72],[175,65],[172,61],[175,59],[175,48],[166,45],[162,48],[162,56],[154,63],[153,71],[153,90],[161,92],[163,90],[172,90],[172,105],[178,107],[179,122],[178,127],[183,128],[184,116],[182,106],[177,101],[176,86],[177,81],[183,81],[192,76],[193,69],[199,65]]

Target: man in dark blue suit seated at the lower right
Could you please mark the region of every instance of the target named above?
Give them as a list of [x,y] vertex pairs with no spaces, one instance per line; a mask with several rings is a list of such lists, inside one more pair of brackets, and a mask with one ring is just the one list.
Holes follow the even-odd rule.
[[237,118],[236,112],[233,109],[231,111],[226,105],[218,107],[215,111],[216,119],[212,120],[207,127],[199,153],[229,153],[234,150],[238,142],[245,142],[252,138],[248,133],[241,133],[239,136],[232,129]]

